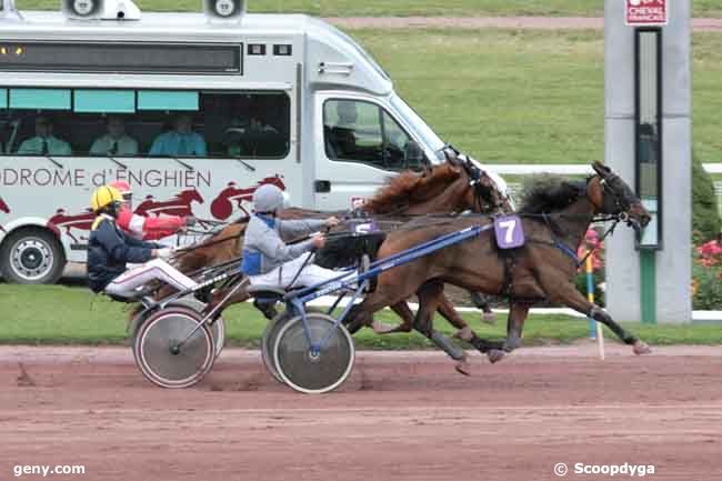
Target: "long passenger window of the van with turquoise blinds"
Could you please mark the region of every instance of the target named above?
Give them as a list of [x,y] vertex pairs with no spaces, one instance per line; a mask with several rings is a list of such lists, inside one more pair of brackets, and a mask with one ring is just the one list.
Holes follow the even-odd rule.
[[280,91],[0,89],[0,154],[280,159]]

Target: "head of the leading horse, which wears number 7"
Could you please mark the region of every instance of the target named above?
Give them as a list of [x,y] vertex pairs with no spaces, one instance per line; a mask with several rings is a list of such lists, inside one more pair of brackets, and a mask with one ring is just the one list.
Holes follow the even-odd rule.
[[601,162],[593,162],[596,176],[588,182],[589,198],[600,213],[619,216],[636,232],[650,223],[652,217],[644,209],[639,197],[615,174],[612,169]]

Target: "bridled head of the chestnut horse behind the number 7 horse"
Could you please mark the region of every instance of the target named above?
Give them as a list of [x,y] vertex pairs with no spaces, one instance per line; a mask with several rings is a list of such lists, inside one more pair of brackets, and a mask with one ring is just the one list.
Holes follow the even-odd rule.
[[485,170],[474,162],[468,156],[460,156],[452,149],[444,151],[447,163],[455,168],[467,182],[468,189],[464,190],[462,209],[474,212],[493,212],[501,210],[511,212],[513,207],[509,198],[504,196],[497,186],[497,182],[489,177]]

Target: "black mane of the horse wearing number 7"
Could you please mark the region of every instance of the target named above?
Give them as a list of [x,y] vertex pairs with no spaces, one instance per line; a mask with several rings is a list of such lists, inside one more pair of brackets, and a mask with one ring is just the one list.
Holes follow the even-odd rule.
[[542,173],[524,181],[521,213],[548,213],[564,209],[584,193],[584,181],[569,181],[560,176]]

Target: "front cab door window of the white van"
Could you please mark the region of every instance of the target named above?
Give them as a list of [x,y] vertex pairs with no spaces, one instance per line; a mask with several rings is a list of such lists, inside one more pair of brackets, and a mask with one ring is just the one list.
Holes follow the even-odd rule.
[[383,108],[358,100],[328,100],[323,106],[323,136],[329,159],[361,162],[387,170],[411,167],[409,134]]

